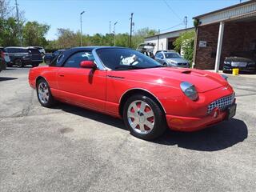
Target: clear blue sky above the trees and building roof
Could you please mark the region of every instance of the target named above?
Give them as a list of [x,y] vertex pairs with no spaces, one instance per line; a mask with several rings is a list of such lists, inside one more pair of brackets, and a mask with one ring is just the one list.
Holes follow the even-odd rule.
[[[50,25],[46,35],[50,40],[56,38],[57,28],[79,30],[82,10],[86,11],[82,16],[83,34],[109,33],[110,21],[118,22],[116,33],[129,32],[132,12],[134,30],[150,27],[167,32],[184,28],[184,25],[177,25],[185,16],[190,27],[194,16],[237,3],[239,0],[18,0],[19,9],[25,11],[27,21]],[[14,0],[10,5],[14,6]],[[168,28],[171,29],[166,30]]]

